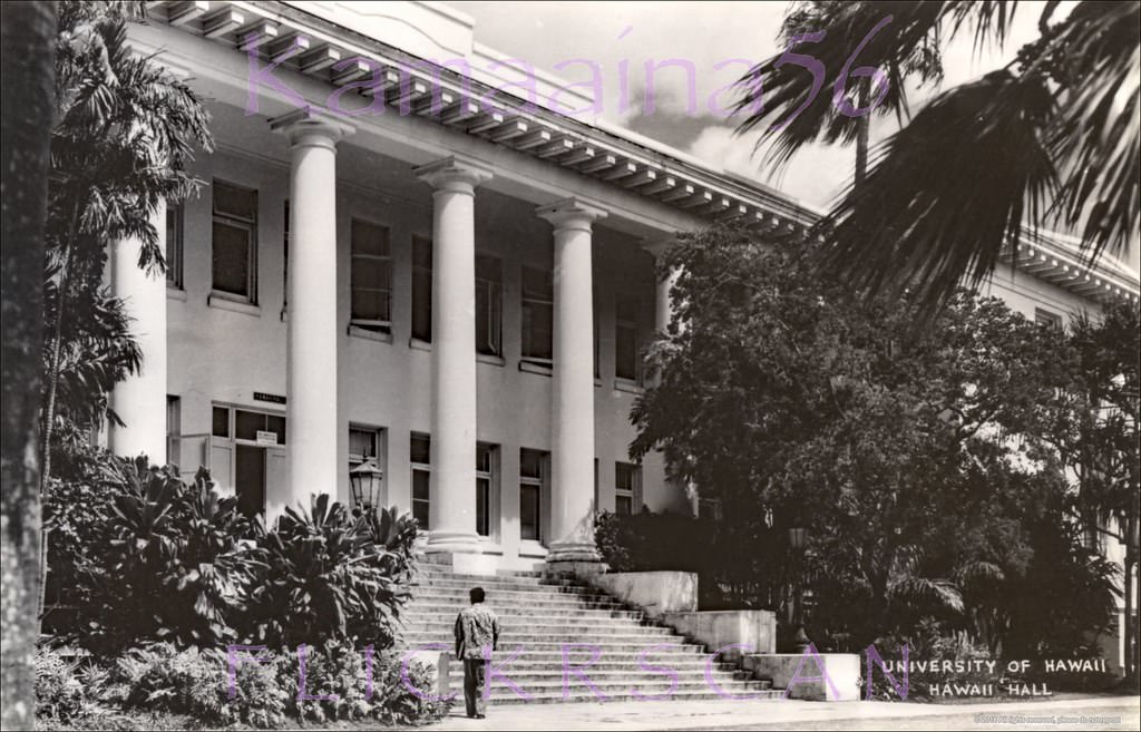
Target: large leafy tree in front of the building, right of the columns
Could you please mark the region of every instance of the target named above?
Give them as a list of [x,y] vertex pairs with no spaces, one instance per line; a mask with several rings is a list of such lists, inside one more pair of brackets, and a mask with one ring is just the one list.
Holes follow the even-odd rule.
[[1059,335],[966,293],[915,333],[907,301],[855,299],[742,229],[688,235],[665,265],[675,316],[631,452],[662,449],[730,522],[808,527],[818,604],[847,618],[830,623],[864,641],[962,625],[981,580],[1027,571],[1034,506],[1065,486],[1011,436],[1065,379]]

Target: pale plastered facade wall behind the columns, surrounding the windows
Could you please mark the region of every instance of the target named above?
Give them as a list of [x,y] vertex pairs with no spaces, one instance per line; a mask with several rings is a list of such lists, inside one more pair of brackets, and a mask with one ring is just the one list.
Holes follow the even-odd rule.
[[[184,436],[209,434],[213,402],[284,414],[284,405],[256,401],[253,392],[286,395],[284,307],[284,203],[289,192],[288,151],[281,155],[248,152],[243,139],[267,135],[264,120],[242,117],[232,107],[215,105],[215,131],[220,152],[202,156],[194,173],[207,185],[185,204],[183,288],[169,291],[169,393],[180,397]],[[265,146],[265,144],[261,144]],[[382,428],[387,501],[411,506],[410,432],[430,432],[430,344],[411,339],[412,237],[431,234],[431,192],[415,180],[410,166],[379,153],[345,143],[338,155],[338,358],[339,447],[346,471],[337,486],[349,497],[347,455],[349,424]],[[235,308],[210,300],[210,181],[218,178],[258,190],[257,304]],[[389,228],[394,255],[393,333],[350,334],[349,259],[354,217]],[[502,552],[505,566],[529,567],[543,555],[541,545],[520,545],[518,462],[521,447],[550,450],[549,375],[523,372],[521,266],[550,268],[549,223],[534,215],[534,205],[492,190],[477,190],[476,246],[502,260],[502,344],[504,358],[478,364],[478,439],[497,445],[499,490],[489,552]],[[615,293],[634,292],[642,303],[641,337],[654,326],[654,261],[633,237],[596,227],[594,291],[599,332],[599,379],[596,382],[596,455],[598,506],[614,507],[615,462],[626,456],[634,429],[629,413],[637,390],[623,389],[614,377]],[[371,336],[367,336],[371,335]],[[475,355],[472,356],[475,358]],[[334,375],[331,374],[330,377]],[[288,432],[288,426],[286,426]],[[208,438],[184,441],[184,467],[203,459]],[[288,449],[288,445],[286,445]],[[578,487],[593,490],[593,486]],[[644,462],[642,494],[655,511],[685,510],[683,491],[667,486],[661,457]],[[549,527],[549,517],[543,517]]]

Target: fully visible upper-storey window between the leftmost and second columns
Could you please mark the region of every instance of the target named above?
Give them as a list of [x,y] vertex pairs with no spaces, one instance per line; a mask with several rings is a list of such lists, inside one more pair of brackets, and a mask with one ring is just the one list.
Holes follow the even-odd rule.
[[258,192],[213,181],[212,287],[258,300]]

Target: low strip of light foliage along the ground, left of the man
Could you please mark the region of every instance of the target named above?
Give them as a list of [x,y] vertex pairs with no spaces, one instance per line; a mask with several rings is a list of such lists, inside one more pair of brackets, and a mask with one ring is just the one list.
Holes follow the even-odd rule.
[[[404,684],[398,656],[367,653],[330,642],[238,654],[232,666],[226,649],[171,643],[86,661],[43,651],[37,657],[37,722],[51,730],[265,730],[339,721],[407,727],[447,713],[447,702],[422,699]],[[431,689],[430,670],[420,662],[408,665],[407,677],[416,689]]]

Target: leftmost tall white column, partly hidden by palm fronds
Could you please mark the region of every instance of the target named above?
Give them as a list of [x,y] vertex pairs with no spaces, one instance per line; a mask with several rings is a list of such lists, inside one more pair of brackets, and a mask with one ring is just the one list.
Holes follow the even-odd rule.
[[[167,253],[167,204],[159,202],[151,223],[159,247]],[[167,462],[167,278],[139,268],[141,242],[131,237],[112,244],[111,287],[131,318],[130,333],[143,352],[138,374],[115,384],[111,408],[123,426],[111,426],[110,447],[116,455],[146,455],[152,464]]]

